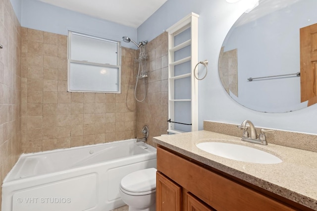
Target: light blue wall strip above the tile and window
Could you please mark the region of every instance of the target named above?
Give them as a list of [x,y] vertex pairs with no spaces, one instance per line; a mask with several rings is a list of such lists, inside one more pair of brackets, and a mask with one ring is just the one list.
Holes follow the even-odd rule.
[[[17,1],[17,0],[11,0]],[[121,41],[123,36],[137,40],[137,29],[105,21],[37,0],[22,1],[23,27],[56,34],[67,35],[68,30]],[[121,43],[123,47],[135,48],[131,43]]]

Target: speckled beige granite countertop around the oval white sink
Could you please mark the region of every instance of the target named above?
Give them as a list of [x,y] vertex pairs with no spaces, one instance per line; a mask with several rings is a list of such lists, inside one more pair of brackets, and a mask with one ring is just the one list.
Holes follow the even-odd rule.
[[[154,137],[155,143],[193,158],[272,193],[317,210],[317,153],[280,145],[259,145],[241,141],[241,137],[210,131],[195,131]],[[221,141],[253,147],[282,159],[277,164],[237,161],[212,155],[196,147],[197,143]]]

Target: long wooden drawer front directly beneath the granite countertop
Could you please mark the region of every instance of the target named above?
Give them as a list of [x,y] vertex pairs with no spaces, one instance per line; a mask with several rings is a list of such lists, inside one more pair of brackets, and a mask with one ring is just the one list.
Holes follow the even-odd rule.
[[292,211],[279,202],[158,147],[158,171],[217,211]]

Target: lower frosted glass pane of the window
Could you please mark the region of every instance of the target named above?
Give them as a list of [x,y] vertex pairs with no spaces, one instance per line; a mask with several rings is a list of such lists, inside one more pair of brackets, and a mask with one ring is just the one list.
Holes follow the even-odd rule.
[[118,67],[70,63],[70,91],[118,92],[119,72]]

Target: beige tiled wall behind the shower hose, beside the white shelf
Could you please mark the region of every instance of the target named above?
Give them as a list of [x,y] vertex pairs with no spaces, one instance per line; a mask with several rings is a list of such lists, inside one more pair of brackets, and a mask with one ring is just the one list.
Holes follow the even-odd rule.
[[[148,143],[155,146],[152,138],[167,134],[168,127],[168,34],[162,33],[146,45],[147,71],[150,76],[147,83],[147,97],[144,102],[137,102],[137,137],[142,137],[144,125],[149,127]],[[139,52],[137,52],[139,55]],[[135,64],[135,75],[139,65]],[[140,83],[141,82],[141,83]],[[143,99],[144,88],[139,81],[137,98]]]

